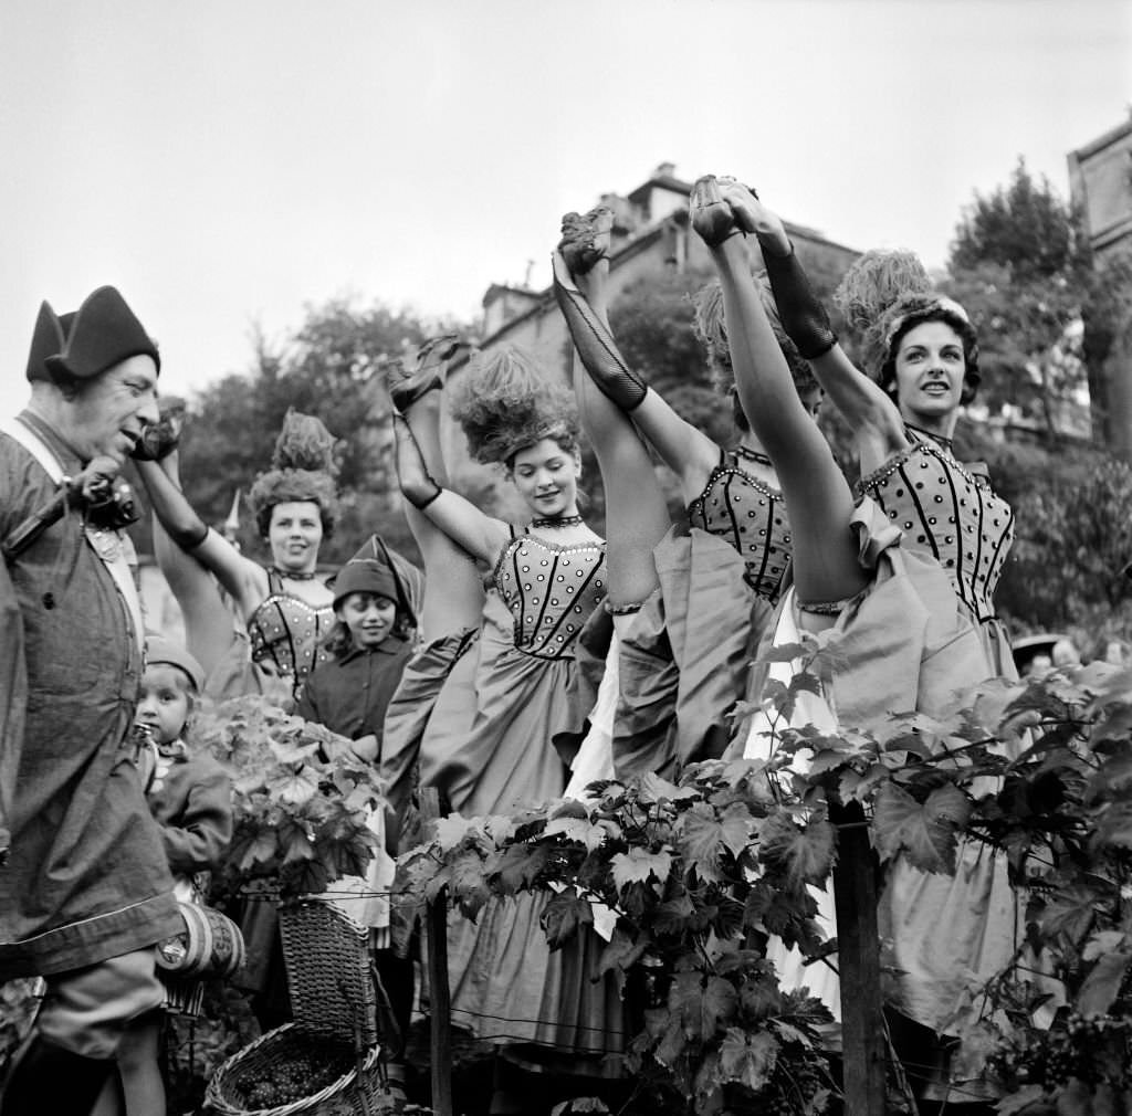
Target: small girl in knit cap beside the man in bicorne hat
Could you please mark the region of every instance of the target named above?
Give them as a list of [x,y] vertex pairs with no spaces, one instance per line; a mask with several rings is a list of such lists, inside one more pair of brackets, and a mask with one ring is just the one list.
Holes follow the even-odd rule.
[[[182,901],[199,890],[200,875],[220,862],[232,839],[231,780],[215,759],[190,753],[186,745],[203,686],[204,671],[187,651],[156,636],[146,641],[135,723],[148,730],[153,745],[139,767]],[[93,1116],[164,1116],[161,1028],[158,1012],[135,1020],[118,1053],[117,1080],[108,1081]]]

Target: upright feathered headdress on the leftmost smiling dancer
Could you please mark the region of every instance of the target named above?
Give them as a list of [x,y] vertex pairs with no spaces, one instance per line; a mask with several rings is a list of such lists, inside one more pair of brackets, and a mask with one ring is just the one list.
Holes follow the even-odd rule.
[[336,445],[320,419],[293,407],[288,411],[275,439],[272,467],[256,478],[248,493],[261,535],[267,534],[276,504],[310,501],[318,505],[324,538],[331,536],[338,517]]

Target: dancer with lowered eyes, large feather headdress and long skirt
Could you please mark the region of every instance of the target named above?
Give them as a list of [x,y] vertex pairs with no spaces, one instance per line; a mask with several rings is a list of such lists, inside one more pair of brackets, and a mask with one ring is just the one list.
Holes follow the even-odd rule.
[[[561,796],[567,769],[551,741],[574,727],[575,645],[607,574],[604,543],[578,512],[569,394],[517,350],[474,359],[452,394],[472,455],[501,465],[530,510],[528,522],[505,523],[443,487],[410,422],[395,415],[405,499],[490,570],[470,685],[448,675],[420,750],[421,783],[472,817]],[[621,1031],[616,991],[608,980],[591,984],[593,951],[550,953],[539,925],[544,904],[524,894],[489,902],[475,924],[453,922],[453,1018],[481,1038],[606,1049]]]

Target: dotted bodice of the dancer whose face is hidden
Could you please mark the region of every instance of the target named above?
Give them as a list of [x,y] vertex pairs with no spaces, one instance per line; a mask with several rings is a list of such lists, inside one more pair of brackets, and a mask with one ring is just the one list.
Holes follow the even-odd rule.
[[786,504],[781,492],[745,472],[734,452],[688,505],[688,522],[726,539],[746,563],[747,584],[760,596],[778,600],[790,564]]

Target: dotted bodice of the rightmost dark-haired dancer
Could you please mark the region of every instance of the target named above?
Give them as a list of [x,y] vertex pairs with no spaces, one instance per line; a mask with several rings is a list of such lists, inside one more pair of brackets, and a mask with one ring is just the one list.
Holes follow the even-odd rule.
[[1014,513],[985,477],[916,439],[859,487],[903,531],[906,547],[931,553],[947,570],[977,620],[995,618],[994,591],[1014,541]]

